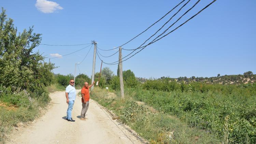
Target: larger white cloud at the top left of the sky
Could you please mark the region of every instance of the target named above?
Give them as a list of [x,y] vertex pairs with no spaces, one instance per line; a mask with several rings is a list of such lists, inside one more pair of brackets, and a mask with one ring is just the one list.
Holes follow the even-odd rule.
[[47,0],[37,0],[35,7],[43,13],[53,13],[56,10],[63,9],[58,3]]

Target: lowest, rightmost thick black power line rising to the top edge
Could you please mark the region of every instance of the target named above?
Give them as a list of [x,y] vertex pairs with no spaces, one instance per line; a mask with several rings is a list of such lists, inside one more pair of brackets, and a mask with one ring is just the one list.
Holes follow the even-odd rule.
[[[200,0],[199,0],[200,1]],[[197,12],[195,15],[193,15],[192,17],[190,17],[189,19],[187,19],[184,23],[182,23],[180,26],[178,26],[178,27],[176,27],[175,29],[173,29],[172,31],[170,31],[169,33],[167,33],[167,34],[165,34],[165,35],[163,35],[161,38],[159,38],[159,39],[157,39],[157,40],[155,40],[155,41],[152,41],[152,42],[150,42],[150,43],[148,43],[147,45],[145,45],[145,46],[143,46],[143,48],[140,50],[140,51],[142,51],[144,48],[146,48],[146,46],[148,46],[148,45],[150,45],[150,44],[152,44],[152,43],[155,43],[155,42],[157,42],[158,40],[160,40],[160,39],[162,39],[163,37],[166,37],[168,34],[170,34],[171,32],[173,32],[173,31],[175,31],[176,29],[178,29],[179,27],[181,27],[182,25],[184,25],[185,23],[187,23],[190,19],[192,19],[192,18],[194,18],[195,16],[197,16],[199,13],[201,13],[204,9],[206,9],[206,8],[208,8],[208,6],[210,6],[211,4],[213,4],[214,2],[215,2],[216,0],[213,0],[211,3],[209,3],[207,6],[205,6],[202,10],[200,10],[199,12]],[[137,53],[139,53],[140,51],[138,51]],[[135,54],[133,54],[132,56],[130,56],[129,58],[131,58],[131,57],[133,57],[134,55],[136,55],[137,53],[135,53]],[[129,54],[130,55],[130,54]],[[128,55],[127,55],[128,56]],[[127,58],[127,59],[129,59],[129,58]],[[122,60],[122,61],[126,61],[127,59],[125,59],[125,60]],[[114,65],[114,64],[118,64],[119,62],[118,61],[116,61],[117,63],[115,63],[115,62],[113,62],[113,63],[105,63],[105,64],[109,64],[109,65]]]

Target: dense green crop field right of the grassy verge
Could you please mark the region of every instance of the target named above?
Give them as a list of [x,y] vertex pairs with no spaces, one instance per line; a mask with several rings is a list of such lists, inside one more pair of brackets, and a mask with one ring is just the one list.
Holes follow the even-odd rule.
[[223,139],[226,135],[230,143],[256,143],[256,83],[236,86],[152,80],[143,87],[126,89],[126,95],[176,115],[191,127]]

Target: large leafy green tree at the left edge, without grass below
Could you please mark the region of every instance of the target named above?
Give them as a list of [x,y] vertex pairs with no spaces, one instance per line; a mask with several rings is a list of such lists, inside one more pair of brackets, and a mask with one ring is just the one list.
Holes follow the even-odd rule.
[[[44,62],[39,52],[32,52],[41,42],[33,27],[17,33],[13,20],[2,8],[0,14],[0,85],[15,89],[41,91],[53,82],[54,64]],[[40,95],[40,93],[39,93]]]

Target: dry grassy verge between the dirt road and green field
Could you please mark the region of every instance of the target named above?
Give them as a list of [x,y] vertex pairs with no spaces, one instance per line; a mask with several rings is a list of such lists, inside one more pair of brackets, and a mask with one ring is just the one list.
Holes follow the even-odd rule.
[[120,98],[120,95],[110,97],[107,90],[98,87],[91,93],[92,99],[113,110],[118,120],[129,125],[152,144],[221,142],[214,134],[190,128],[176,117],[162,112],[152,112],[148,106],[138,104],[134,97],[130,96],[130,93],[126,93],[125,99]]

